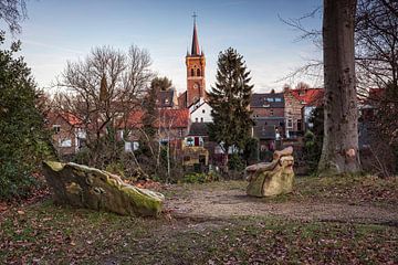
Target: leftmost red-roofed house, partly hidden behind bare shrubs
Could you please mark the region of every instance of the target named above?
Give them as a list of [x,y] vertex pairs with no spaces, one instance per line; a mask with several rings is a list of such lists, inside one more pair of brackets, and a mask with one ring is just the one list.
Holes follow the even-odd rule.
[[86,131],[82,120],[66,112],[50,112],[46,127],[52,129],[52,140],[61,156],[76,153],[85,145]]

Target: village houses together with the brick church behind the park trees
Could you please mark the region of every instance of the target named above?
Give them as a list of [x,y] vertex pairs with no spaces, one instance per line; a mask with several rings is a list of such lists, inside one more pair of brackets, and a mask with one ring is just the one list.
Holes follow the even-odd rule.
[[[222,157],[222,150],[209,139],[208,125],[213,120],[206,89],[206,57],[199,49],[195,22],[192,45],[185,62],[187,89],[179,94],[175,88],[158,92],[157,137],[159,142],[172,145],[185,165],[217,163]],[[311,110],[321,103],[322,97],[323,89],[308,87],[254,93],[250,103],[255,121],[252,137],[260,140],[261,150],[274,150],[280,141],[300,139],[305,129],[311,127]],[[125,151],[135,151],[139,147],[144,112],[140,108],[129,112],[123,114],[127,115],[127,119],[113,123],[113,126],[117,139],[124,141]],[[53,129],[54,146],[63,156],[77,152],[86,144],[90,134],[90,128],[70,113],[51,113],[48,126]]]

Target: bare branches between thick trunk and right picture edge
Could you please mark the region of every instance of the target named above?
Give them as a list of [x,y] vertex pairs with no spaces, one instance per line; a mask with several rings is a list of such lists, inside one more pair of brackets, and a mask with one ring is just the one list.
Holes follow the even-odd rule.
[[356,62],[360,88],[398,87],[398,2],[359,0]]

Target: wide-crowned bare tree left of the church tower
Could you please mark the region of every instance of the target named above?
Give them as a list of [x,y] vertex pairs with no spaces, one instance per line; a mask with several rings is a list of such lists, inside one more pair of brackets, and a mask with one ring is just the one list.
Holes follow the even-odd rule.
[[94,165],[104,153],[100,151],[103,136],[113,137],[115,128],[127,125],[129,113],[142,105],[153,76],[150,64],[149,53],[135,45],[127,53],[95,47],[83,61],[67,63],[57,84],[66,88],[61,106],[82,120]]

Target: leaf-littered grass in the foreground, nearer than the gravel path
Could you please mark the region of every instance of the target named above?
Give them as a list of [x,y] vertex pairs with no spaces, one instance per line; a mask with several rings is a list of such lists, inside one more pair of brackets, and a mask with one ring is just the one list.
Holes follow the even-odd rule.
[[0,229],[7,264],[347,264],[397,263],[398,229],[240,218],[136,219],[57,208],[11,211]]

